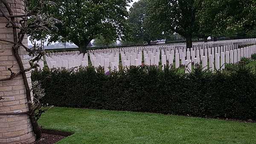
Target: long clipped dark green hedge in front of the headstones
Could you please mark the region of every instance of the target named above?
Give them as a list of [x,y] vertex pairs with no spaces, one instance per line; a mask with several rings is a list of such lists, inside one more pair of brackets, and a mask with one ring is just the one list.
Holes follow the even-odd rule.
[[210,118],[256,120],[256,74],[239,65],[232,71],[191,74],[157,66],[121,69],[52,69],[33,72],[46,95],[43,103],[58,107],[156,112]]

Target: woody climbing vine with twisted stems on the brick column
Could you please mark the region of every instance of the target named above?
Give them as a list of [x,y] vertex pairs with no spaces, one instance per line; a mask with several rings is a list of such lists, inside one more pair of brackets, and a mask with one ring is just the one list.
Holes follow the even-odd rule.
[[[20,0],[15,1],[14,6],[16,6],[16,3],[22,3],[21,6],[24,6],[24,12],[22,14],[16,13],[17,11],[14,11],[15,7],[11,7],[11,4],[8,3],[7,0],[0,0],[0,17],[4,17],[8,21],[6,23],[6,28],[12,28],[13,30],[13,41],[5,39],[0,39],[0,41],[13,44],[12,52],[20,67],[20,71],[15,73],[12,71],[12,67],[10,67],[8,68],[8,71],[11,72],[10,77],[0,79],[0,81],[11,80],[16,78],[18,75],[22,75],[29,106],[29,112],[27,112],[27,114],[29,115],[36,138],[39,139],[41,138],[41,128],[39,127],[37,120],[45,110],[42,110],[43,105],[36,98],[33,100],[31,95],[33,88],[29,87],[26,72],[38,67],[37,62],[44,56],[45,52],[43,47],[36,43],[33,43],[34,46],[32,48],[28,48],[23,44],[23,40],[27,35],[30,36],[31,39],[44,40],[47,37],[47,33],[52,30],[57,30],[55,24],[61,22],[43,11],[46,6],[55,6],[55,3],[52,3],[51,1],[33,0],[32,5],[28,0]],[[29,60],[29,68],[24,67],[25,63],[23,63],[19,54],[20,49],[25,49],[30,55],[35,56]],[[3,98],[1,96],[0,100],[2,99]],[[5,113],[5,115],[17,115],[17,113]]]

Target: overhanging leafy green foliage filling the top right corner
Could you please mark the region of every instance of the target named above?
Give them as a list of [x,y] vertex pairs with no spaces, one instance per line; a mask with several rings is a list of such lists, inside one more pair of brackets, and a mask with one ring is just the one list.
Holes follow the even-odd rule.
[[242,36],[256,25],[255,0],[202,0],[199,31],[207,36]]

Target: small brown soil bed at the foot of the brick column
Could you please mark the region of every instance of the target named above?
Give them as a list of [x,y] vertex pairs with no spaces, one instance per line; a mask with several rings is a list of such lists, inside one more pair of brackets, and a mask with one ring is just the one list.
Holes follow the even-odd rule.
[[58,130],[45,130],[42,129],[42,137],[39,141],[35,142],[35,144],[55,144],[61,139],[72,135],[70,132],[61,132]]

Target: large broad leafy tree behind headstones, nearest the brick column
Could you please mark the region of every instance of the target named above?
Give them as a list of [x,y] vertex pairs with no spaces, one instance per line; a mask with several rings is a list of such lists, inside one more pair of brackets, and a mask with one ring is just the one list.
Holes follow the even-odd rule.
[[130,0],[52,0],[57,7],[49,13],[63,24],[50,41],[68,40],[84,52],[91,40],[102,36],[116,40],[125,33]]

